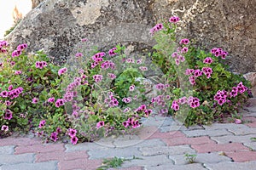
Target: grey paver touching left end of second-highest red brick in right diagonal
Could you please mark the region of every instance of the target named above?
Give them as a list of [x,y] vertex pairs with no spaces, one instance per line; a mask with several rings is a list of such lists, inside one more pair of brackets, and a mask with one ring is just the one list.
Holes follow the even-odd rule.
[[127,141],[115,141],[113,143],[116,145],[117,148],[122,147],[150,147],[150,146],[165,146],[166,143],[164,143],[161,139],[145,139],[145,140],[127,140]]

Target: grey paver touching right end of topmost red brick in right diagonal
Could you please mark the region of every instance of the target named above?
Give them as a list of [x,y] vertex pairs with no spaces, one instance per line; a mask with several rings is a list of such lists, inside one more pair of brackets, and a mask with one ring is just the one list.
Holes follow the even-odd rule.
[[188,137],[198,137],[198,136],[223,136],[232,134],[226,129],[216,129],[216,130],[193,130],[193,131],[183,131]]

